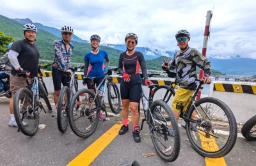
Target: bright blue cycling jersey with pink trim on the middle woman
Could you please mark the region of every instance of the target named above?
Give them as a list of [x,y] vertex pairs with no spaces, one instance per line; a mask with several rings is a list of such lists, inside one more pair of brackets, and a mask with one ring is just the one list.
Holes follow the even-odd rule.
[[89,68],[87,77],[103,78],[104,75],[104,59],[108,57],[108,53],[104,50],[99,50],[98,54],[87,52],[84,56],[84,61],[88,61]]

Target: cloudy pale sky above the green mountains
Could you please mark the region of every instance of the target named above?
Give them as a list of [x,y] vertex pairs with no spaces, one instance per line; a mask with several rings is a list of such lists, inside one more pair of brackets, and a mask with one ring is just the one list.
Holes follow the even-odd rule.
[[89,40],[99,34],[102,43],[124,44],[125,34],[138,34],[139,47],[177,50],[175,33],[187,29],[189,45],[202,50],[206,13],[212,10],[207,56],[240,55],[256,59],[256,1],[253,0],[0,0],[0,14],[29,18],[60,29],[74,27]]

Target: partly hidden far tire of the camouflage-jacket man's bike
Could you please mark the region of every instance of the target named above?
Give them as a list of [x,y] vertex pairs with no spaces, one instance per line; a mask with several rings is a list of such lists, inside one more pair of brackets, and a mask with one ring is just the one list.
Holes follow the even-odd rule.
[[[154,94],[156,94],[157,91],[159,91],[160,89],[166,89],[166,94],[164,94],[164,98],[163,99],[160,99],[160,100],[163,100],[165,103],[168,103],[168,101],[170,100],[170,98],[172,96],[175,95],[175,91],[173,91],[172,88],[170,88],[169,86],[158,86],[154,89],[154,93],[152,94],[152,100],[156,100],[156,98],[154,99]],[[157,119],[159,119],[160,121],[163,121],[163,118],[157,114],[155,114],[154,110],[152,110],[152,114],[154,116],[156,116]],[[170,121],[170,118],[166,118],[166,121]]]

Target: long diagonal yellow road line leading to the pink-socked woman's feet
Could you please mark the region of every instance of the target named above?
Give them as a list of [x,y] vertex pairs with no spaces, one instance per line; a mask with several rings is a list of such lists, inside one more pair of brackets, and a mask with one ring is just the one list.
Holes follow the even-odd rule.
[[[128,119],[130,122],[131,119]],[[129,123],[128,122],[128,123]],[[95,158],[108,146],[108,144],[115,139],[118,135],[122,122],[112,126],[106,133],[101,135],[99,139],[95,140],[89,147],[81,152],[76,158],[74,158],[67,166],[72,165],[90,165]],[[97,130],[97,129],[96,129]]]

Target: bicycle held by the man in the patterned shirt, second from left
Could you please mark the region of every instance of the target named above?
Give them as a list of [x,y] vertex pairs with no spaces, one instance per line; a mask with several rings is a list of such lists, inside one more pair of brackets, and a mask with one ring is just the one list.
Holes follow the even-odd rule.
[[[77,68],[83,69],[84,66],[79,67],[70,67],[67,71],[63,72],[68,76],[69,86],[63,86],[60,91],[58,98],[58,107],[57,107],[57,124],[60,132],[65,132],[68,127],[68,105],[72,96],[78,91],[78,82],[76,77]],[[76,103],[79,102],[79,96],[76,98]],[[76,110],[79,109],[79,104],[74,105]],[[74,114],[76,115],[76,114]]]

